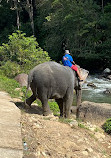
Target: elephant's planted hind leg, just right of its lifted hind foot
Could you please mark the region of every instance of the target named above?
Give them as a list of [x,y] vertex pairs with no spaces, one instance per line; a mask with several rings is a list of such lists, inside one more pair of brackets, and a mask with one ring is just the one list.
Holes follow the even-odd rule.
[[42,108],[43,108],[43,115],[47,116],[47,115],[51,114],[52,112],[51,112],[50,107],[48,105],[48,99],[43,98],[43,99],[41,99],[41,102],[42,102]]

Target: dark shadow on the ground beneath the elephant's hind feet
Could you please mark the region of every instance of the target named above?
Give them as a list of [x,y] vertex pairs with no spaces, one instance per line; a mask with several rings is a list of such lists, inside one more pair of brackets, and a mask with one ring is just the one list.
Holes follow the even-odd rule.
[[25,106],[24,102],[13,102],[21,111],[29,113],[29,114],[38,114],[42,115],[43,110],[42,107],[37,106],[36,104],[32,104],[31,107]]

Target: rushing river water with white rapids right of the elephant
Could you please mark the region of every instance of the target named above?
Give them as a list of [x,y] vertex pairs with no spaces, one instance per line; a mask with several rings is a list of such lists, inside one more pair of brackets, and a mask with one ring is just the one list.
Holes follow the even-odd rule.
[[[87,86],[88,83],[93,83],[96,88]],[[89,76],[86,83],[83,84],[82,101],[92,101],[98,103],[110,103],[111,93],[104,94],[104,91],[109,89],[111,91],[111,81],[103,78],[98,78],[98,75]]]

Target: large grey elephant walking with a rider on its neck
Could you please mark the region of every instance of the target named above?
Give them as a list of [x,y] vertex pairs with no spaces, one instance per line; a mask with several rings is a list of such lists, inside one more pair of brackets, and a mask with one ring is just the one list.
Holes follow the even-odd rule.
[[[84,74],[84,79],[88,76],[88,71],[85,69],[81,69],[81,73]],[[57,62],[49,61],[34,67],[28,75],[27,91],[29,87],[33,94],[25,100],[25,104],[31,106],[37,98],[40,99],[44,116],[51,113],[48,99],[55,99],[60,109],[60,117],[70,117],[74,89],[77,106],[81,103],[82,88],[76,72]]]

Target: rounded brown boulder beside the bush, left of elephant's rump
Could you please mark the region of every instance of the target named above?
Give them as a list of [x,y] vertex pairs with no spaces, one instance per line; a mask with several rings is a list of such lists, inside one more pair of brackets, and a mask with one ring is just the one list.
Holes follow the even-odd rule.
[[28,75],[25,73],[21,73],[15,77],[15,80],[20,84],[20,86],[26,86],[27,87],[27,79]]

